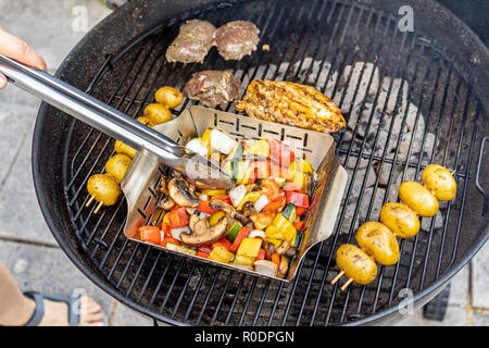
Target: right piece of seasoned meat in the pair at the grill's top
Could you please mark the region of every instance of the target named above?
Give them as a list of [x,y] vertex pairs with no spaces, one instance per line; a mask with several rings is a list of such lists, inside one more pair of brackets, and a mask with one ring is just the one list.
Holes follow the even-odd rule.
[[256,50],[259,34],[259,28],[251,22],[228,22],[215,30],[215,45],[225,60],[240,60]]

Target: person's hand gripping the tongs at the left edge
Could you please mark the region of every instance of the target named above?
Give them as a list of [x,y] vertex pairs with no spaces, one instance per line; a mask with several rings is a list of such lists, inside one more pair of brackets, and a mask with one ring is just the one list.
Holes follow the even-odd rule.
[[[0,26],[0,54],[21,63],[46,71],[46,63],[27,44],[7,33]],[[7,77],[0,73],[0,89],[7,86]]]

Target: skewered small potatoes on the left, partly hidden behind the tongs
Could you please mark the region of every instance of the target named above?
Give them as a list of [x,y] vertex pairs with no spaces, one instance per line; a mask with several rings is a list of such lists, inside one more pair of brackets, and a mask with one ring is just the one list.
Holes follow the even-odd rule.
[[[178,107],[181,103],[183,96],[178,89],[165,86],[156,90],[154,99],[156,102],[145,109],[145,115],[136,119],[148,127],[171,121],[172,112],[170,109]],[[90,198],[86,206],[89,207],[93,200],[99,202],[93,211],[95,213],[102,206],[115,204],[121,196],[120,183],[137,152],[136,149],[121,140],[115,140],[114,151],[116,153],[105,163],[106,174],[95,174],[87,182]]]

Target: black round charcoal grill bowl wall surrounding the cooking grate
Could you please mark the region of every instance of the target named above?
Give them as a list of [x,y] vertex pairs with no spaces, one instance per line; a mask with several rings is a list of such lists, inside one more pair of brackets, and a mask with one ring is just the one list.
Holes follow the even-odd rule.
[[[161,24],[173,18],[177,13],[190,13],[195,9],[212,5],[213,1],[143,1],[134,0],[97,25],[67,55],[60,66],[57,76],[80,89],[91,90],[98,83],[93,80],[99,72],[110,67],[108,55],[122,57],[127,44],[137,40],[150,32],[158,32]],[[340,2],[342,3],[342,2]],[[373,7],[385,13],[396,14],[401,5],[410,4],[414,9],[415,28],[429,33],[437,42],[449,52],[453,66],[463,78],[471,83],[473,95],[480,103],[480,114],[484,124],[487,124],[489,105],[489,54],[487,48],[473,34],[468,27],[453,16],[447,9],[435,1],[426,0],[362,0],[358,4]],[[72,215],[66,208],[67,192],[64,190],[66,183],[68,156],[66,141],[76,144],[83,139],[71,139],[75,124],[65,114],[54,108],[42,103],[38,113],[33,142],[33,173],[36,194],[43,216],[54,238],[72,262],[93,283],[129,307],[163,320],[172,324],[187,324],[185,320],[176,320],[172,315],[163,315],[138,303],[120,290],[113,282],[108,281],[93,259],[88,253],[87,246],[76,238]],[[487,129],[482,126],[480,132]],[[477,132],[474,132],[477,134]],[[471,148],[479,150],[479,138],[472,141]],[[465,150],[468,151],[468,150]],[[484,163],[484,161],[482,161]],[[488,239],[487,210],[479,216],[480,197],[475,188],[474,173],[477,164],[476,154],[468,160],[467,178],[468,199],[465,199],[465,212],[473,212],[472,219],[462,222],[464,232],[463,240],[460,240],[459,252],[450,269],[438,276],[429,286],[414,294],[415,307],[423,306],[432,298],[460,271],[481,248]],[[487,182],[486,182],[487,184]],[[487,186],[486,186],[487,187]],[[467,215],[467,213],[465,213]],[[461,251],[460,251],[461,250]],[[335,295],[333,295],[335,296]],[[355,295],[356,296],[356,295]],[[400,304],[388,306],[374,311],[369,315],[358,315],[351,324],[378,324],[390,323],[401,318]],[[300,321],[299,321],[300,323]]]

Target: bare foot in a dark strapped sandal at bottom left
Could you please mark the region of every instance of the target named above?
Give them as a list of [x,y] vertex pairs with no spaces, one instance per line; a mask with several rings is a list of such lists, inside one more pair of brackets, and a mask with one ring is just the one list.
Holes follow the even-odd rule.
[[[78,326],[103,326],[102,308],[91,297],[79,298]],[[68,326],[68,308],[65,302],[45,299],[45,316],[39,326]]]

